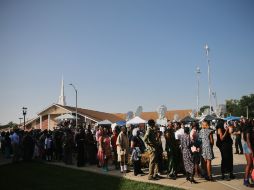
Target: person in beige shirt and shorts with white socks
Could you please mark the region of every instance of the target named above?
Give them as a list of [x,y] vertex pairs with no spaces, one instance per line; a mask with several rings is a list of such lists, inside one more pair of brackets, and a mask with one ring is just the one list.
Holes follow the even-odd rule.
[[127,137],[126,127],[121,127],[121,132],[119,133],[116,140],[116,146],[121,173],[128,172],[127,163],[129,155],[129,139]]

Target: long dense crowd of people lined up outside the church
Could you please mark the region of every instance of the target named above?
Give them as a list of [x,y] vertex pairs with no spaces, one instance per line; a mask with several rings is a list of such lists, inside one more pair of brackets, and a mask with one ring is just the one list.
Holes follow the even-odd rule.
[[[213,146],[221,153],[221,179],[234,179],[233,140],[235,154],[244,154],[245,186],[253,183],[254,120],[218,120],[216,129],[209,121],[193,122],[186,126],[168,122],[163,130],[154,120],[147,127],[98,126],[62,127],[53,131],[14,129],[1,133],[1,152],[13,162],[33,159],[76,164],[77,167],[97,165],[105,172],[113,164],[121,173],[145,175],[142,171],[144,155],[149,157],[149,180],[159,180],[162,174],[176,180],[184,174],[186,180],[197,183],[195,176],[214,181],[212,177]],[[217,136],[216,142],[214,140]],[[112,161],[112,162],[109,162]],[[254,172],[253,172],[254,173]]]

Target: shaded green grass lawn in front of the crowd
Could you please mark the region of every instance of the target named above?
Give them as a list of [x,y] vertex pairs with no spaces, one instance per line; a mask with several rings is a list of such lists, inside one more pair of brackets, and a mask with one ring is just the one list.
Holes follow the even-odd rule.
[[43,163],[0,166],[0,187],[8,190],[177,190]]

